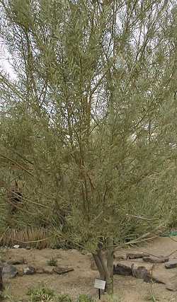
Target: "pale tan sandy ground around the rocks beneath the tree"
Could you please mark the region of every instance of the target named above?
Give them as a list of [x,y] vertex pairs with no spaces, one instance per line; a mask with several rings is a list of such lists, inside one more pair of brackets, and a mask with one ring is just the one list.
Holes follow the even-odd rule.
[[[167,256],[171,259],[177,257],[177,238],[157,238],[137,250],[150,252],[154,255]],[[135,252],[133,249],[118,250],[115,256],[125,255],[126,252]],[[51,257],[57,258],[58,265],[68,265],[73,267],[74,271],[67,274],[34,274],[29,276],[16,277],[10,279],[6,285],[10,287],[11,294],[16,297],[16,301],[29,301],[26,293],[29,288],[38,286],[39,283],[46,284],[54,289],[58,294],[71,294],[76,297],[78,294],[91,294],[97,296],[96,289],[93,287],[94,279],[98,273],[91,269],[91,256],[82,255],[76,250],[25,250],[11,249],[6,252],[6,260],[16,257],[24,257],[28,265],[34,267],[47,267],[47,260]],[[120,262],[115,258],[115,263]],[[18,265],[18,268],[21,265]],[[155,268],[159,274],[166,279],[176,276],[177,268],[164,269],[164,265],[156,265]],[[168,291],[164,284],[147,284],[142,279],[134,277],[122,277],[115,275],[114,278],[115,294],[120,297],[121,302],[143,302],[143,301],[176,301],[177,291]],[[152,299],[151,292],[154,294]],[[103,296],[103,300],[105,297]],[[118,300],[119,301],[119,300]]]

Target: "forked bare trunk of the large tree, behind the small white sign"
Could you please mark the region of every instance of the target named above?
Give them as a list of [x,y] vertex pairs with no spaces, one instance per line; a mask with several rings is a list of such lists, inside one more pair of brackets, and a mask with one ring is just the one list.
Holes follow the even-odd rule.
[[93,258],[101,279],[105,280],[105,292],[113,294],[113,239],[107,240],[106,255],[103,250],[97,250]]

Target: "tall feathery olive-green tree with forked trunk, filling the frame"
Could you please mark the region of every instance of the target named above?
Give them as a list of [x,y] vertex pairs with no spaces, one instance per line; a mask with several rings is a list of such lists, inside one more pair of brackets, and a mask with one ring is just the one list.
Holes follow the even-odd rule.
[[176,168],[175,6],[0,3],[16,73],[0,76],[1,163],[18,167],[30,200],[64,213],[57,236],[91,250],[112,292],[113,239],[159,227],[158,180]]

